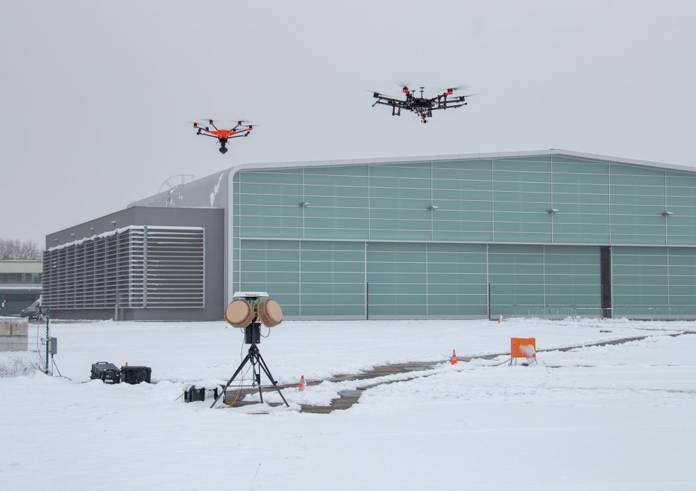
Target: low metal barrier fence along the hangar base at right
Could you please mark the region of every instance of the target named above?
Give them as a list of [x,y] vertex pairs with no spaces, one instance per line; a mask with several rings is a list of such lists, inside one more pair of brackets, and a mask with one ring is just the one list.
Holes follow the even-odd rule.
[[549,307],[548,305],[508,305],[503,317],[525,319],[630,319],[633,321],[694,321],[696,307]]

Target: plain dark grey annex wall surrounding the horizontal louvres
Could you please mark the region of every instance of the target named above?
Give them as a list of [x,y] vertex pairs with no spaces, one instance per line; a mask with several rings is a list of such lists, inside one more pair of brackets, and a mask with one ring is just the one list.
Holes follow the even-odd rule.
[[[217,321],[226,302],[225,210],[219,208],[130,207],[46,236],[51,248],[129,225],[205,228],[205,307],[202,309],[121,309],[121,320]],[[113,224],[112,222],[116,222]],[[74,236],[72,235],[74,234]],[[57,239],[57,240],[56,240]],[[53,319],[113,319],[113,309],[52,310]]]

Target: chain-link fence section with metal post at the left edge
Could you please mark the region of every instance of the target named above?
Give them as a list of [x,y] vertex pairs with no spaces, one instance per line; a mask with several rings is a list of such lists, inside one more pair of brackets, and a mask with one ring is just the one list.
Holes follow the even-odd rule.
[[0,377],[51,371],[50,319],[0,316]]

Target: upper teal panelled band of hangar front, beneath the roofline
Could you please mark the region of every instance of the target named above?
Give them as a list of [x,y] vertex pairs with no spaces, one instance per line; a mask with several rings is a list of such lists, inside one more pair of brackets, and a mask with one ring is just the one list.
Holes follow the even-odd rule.
[[233,189],[247,238],[687,246],[695,183],[556,155],[242,170]]

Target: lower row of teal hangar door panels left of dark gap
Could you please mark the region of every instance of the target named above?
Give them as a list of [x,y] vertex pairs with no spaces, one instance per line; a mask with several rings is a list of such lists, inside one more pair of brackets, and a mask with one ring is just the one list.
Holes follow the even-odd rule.
[[[286,316],[474,318],[599,308],[599,246],[243,239],[235,289]],[[490,287],[490,300],[489,300]]]

